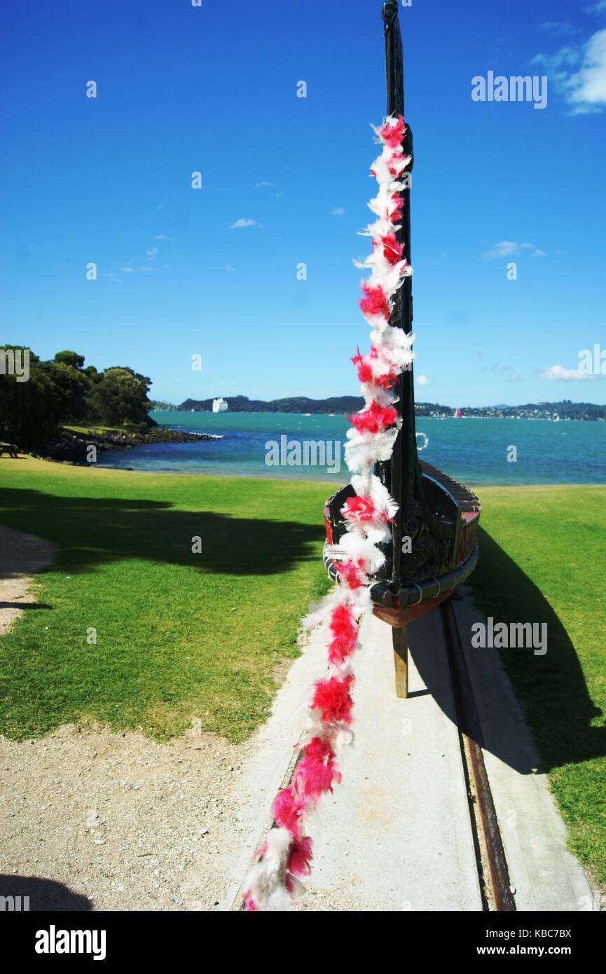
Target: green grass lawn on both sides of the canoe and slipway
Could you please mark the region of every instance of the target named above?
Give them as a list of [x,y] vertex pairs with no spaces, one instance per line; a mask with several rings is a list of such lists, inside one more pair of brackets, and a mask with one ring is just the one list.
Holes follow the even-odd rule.
[[[40,607],[0,641],[0,732],[96,720],[162,739],[198,718],[244,739],[277,665],[297,655],[298,618],[326,590],[330,489],[0,460],[0,522],[59,544]],[[474,595],[496,620],[548,623],[546,656],[503,656],[571,848],[604,882],[606,487],[479,493]]]

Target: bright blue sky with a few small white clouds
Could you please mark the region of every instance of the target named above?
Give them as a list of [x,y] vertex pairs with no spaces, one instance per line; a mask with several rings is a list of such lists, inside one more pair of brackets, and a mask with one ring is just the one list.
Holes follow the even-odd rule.
[[[0,342],[175,402],[357,393],[380,0],[3,6]],[[606,0],[413,0],[400,24],[417,398],[606,402],[574,378],[606,350]],[[473,101],[489,70],[547,75],[547,107]]]

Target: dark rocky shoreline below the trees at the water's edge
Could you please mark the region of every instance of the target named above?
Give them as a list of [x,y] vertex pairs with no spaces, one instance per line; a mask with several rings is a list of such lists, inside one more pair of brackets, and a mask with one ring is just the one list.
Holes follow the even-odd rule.
[[57,440],[49,443],[43,450],[31,451],[38,460],[52,460],[56,463],[89,467],[91,447],[98,453],[106,450],[132,450],[134,446],[150,443],[195,443],[198,440],[216,439],[206,432],[181,432],[163,430],[160,427],[146,431],[125,430],[120,432],[91,431],[90,434],[64,431]]

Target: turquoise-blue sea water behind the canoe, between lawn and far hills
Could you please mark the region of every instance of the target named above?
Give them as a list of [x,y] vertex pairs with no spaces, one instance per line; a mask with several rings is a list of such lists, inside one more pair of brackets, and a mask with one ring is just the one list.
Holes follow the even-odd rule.
[[[151,415],[162,427],[220,438],[112,450],[101,455],[100,465],[320,479],[335,486],[349,479],[342,451],[350,426],[345,416],[174,411]],[[422,460],[474,486],[606,482],[606,422],[418,417],[417,431]]]

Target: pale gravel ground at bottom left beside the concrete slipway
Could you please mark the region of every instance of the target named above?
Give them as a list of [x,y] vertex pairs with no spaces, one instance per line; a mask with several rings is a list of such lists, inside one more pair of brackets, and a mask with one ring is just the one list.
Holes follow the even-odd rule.
[[234,792],[251,746],[195,728],[168,744],[102,728],[0,738],[0,895],[31,910],[216,908],[222,854],[249,838]]

